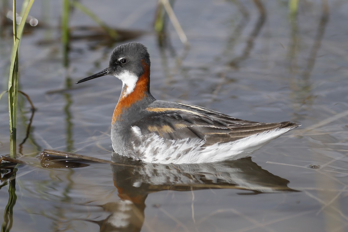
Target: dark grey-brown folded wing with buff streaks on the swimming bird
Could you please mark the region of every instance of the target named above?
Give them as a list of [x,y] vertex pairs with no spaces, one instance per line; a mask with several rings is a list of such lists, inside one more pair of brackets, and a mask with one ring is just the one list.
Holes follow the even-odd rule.
[[143,135],[155,133],[165,139],[200,138],[206,141],[205,145],[232,142],[264,131],[297,126],[292,122],[246,121],[201,107],[187,106],[180,110],[152,108],[148,112],[146,117],[133,124],[140,128]]

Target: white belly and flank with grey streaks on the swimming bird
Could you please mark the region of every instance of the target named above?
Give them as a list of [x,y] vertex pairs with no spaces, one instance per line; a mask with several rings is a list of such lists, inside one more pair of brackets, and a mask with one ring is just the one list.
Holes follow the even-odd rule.
[[[247,157],[272,139],[284,134],[289,128],[265,131],[234,142],[204,146],[202,139],[164,139],[156,134],[142,135],[140,128],[132,130],[137,141],[132,146],[137,158],[150,163],[208,163],[236,160]],[[133,157],[134,158],[134,157]]]

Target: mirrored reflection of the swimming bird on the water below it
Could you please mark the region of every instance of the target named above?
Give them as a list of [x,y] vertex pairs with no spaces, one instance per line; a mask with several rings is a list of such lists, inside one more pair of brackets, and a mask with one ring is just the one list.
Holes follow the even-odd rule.
[[[43,167],[59,168],[57,164],[53,165],[52,157],[46,161],[41,162]],[[287,179],[262,169],[250,157],[219,163],[160,164],[134,161],[113,154],[112,161],[113,182],[120,200],[98,205],[108,213],[105,219],[84,220],[98,224],[103,232],[141,231],[145,200],[153,192],[239,189],[246,190],[239,194],[259,194],[296,191],[287,186]],[[59,162],[62,162],[62,158]],[[64,161],[64,167],[60,168],[69,167],[67,163],[68,158]],[[70,167],[79,167],[78,163],[78,159],[73,159]],[[89,165],[85,160],[80,163],[80,167]]]

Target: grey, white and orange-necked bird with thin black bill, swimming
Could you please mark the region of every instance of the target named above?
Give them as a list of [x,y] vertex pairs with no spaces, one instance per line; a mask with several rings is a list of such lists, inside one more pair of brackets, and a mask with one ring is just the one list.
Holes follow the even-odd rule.
[[116,47],[109,66],[79,80],[104,75],[122,81],[112,115],[114,152],[151,163],[204,163],[235,160],[300,125],[237,119],[184,103],[156,100],[150,93],[150,55],[138,42]]

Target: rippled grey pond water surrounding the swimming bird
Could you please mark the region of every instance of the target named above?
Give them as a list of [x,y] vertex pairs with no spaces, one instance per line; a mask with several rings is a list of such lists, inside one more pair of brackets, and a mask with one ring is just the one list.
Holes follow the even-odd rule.
[[[110,43],[81,11],[71,13],[64,66],[61,2],[35,1],[39,24],[19,51],[16,191],[2,168],[0,210],[16,196],[9,231],[347,231],[348,3],[176,1],[190,43],[171,23],[164,46],[152,30],[156,1],[83,1],[111,27],[135,31]],[[18,6],[20,4],[17,3]],[[59,9],[59,10],[57,10]],[[87,29],[79,26],[88,26]],[[93,26],[93,28],[91,28]],[[1,26],[1,88],[7,89],[11,26]],[[93,30],[92,30],[93,29]],[[88,37],[88,39],[87,39]],[[79,159],[41,163],[43,149],[111,160],[110,123],[121,82],[74,85],[108,65],[117,45],[139,41],[151,55],[151,93],[252,121],[301,127],[246,158],[202,165],[117,164]],[[6,100],[0,102],[1,154],[9,153]],[[115,160],[116,159],[116,160]],[[70,166],[71,168],[63,168]],[[11,224],[12,223],[12,224]]]

